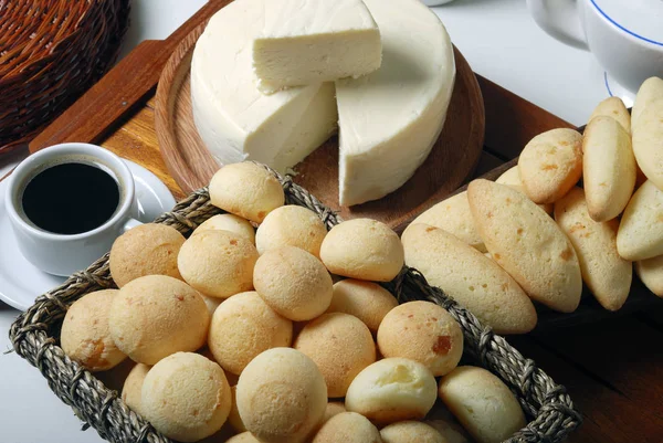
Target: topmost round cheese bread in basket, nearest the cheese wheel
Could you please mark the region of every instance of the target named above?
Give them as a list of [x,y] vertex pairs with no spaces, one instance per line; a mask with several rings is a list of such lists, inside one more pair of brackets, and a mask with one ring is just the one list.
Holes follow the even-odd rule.
[[219,169],[209,190],[213,205],[256,223],[285,203],[278,180],[262,166],[249,161]]

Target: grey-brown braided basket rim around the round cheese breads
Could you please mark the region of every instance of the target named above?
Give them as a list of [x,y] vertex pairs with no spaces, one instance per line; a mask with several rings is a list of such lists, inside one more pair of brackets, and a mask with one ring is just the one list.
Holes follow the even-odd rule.
[[[315,211],[330,229],[339,218],[290,177],[278,178],[285,190],[286,203]],[[222,211],[209,201],[207,189],[193,192],[171,212],[156,222],[176,228],[185,236],[212,215]],[[60,327],[67,306],[83,295],[101,288],[115,287],[108,271],[108,254],[92,266],[70,277],[62,286],[41,295],[10,329],[14,350],[35,366],[60,399],[71,405],[78,418],[94,426],[103,439],[115,443],[170,442],[157,433],[93,373],[64,355],[59,345]],[[399,302],[428,299],[445,309],[460,323],[465,338],[464,358],[482,366],[504,380],[518,398],[530,419],[526,428],[508,440],[515,442],[557,443],[581,423],[580,414],[566,393],[533,360],[524,358],[506,340],[484,327],[469,310],[449,298],[441,289],[427,284],[412,268],[403,268],[386,287]]]

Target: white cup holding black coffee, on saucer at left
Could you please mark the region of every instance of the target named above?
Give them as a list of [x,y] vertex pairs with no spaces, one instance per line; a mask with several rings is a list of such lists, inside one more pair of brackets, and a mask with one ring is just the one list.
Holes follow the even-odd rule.
[[[25,186],[40,171],[61,162],[83,162],[108,173],[118,184],[119,203],[101,226],[80,234],[57,234],[38,228],[22,210]],[[40,150],[23,160],[9,177],[4,202],[21,254],[35,267],[54,275],[84,270],[110,250],[115,239],[140,224],[135,220],[134,177],[115,154],[88,144],[69,143]],[[85,183],[81,183],[85,186]],[[76,196],[71,196],[75,199]],[[83,203],[84,204],[84,203]]]

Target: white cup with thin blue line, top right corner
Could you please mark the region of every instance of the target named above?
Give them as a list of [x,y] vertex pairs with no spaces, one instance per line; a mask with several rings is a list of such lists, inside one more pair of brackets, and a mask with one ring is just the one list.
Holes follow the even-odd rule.
[[527,6],[544,31],[591,51],[631,95],[646,78],[663,76],[662,0],[527,0]]

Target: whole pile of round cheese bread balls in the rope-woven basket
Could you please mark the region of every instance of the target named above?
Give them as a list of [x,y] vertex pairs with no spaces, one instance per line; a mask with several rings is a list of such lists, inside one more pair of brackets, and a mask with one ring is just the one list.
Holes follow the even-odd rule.
[[62,325],[62,349],[86,369],[136,363],[122,398],[156,430],[182,442],[492,443],[525,425],[496,376],[459,366],[463,333],[445,309],[399,305],[375,283],[403,266],[387,225],[327,232],[253,162],[221,168],[209,191],[228,213],[189,239],[164,224],[127,231],[109,255],[119,289],[83,296]]

